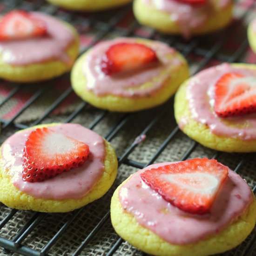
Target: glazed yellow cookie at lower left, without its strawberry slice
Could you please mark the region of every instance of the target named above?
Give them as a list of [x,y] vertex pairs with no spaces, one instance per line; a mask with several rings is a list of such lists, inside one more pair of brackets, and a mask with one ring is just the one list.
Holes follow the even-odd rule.
[[[90,155],[79,168],[43,182],[25,182],[22,180],[22,148],[30,131],[42,127],[50,127],[88,144]],[[45,141],[48,143],[45,145],[54,146],[53,139]],[[68,148],[67,144],[62,147]],[[19,131],[3,143],[0,162],[0,202],[15,209],[41,212],[67,212],[80,208],[104,195],[117,174],[117,158],[110,143],[78,124],[55,123]]]

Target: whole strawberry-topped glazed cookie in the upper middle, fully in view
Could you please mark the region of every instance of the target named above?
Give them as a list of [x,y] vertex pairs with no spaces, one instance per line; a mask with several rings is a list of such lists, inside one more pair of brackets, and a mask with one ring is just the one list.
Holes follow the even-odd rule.
[[118,38],[83,54],[71,82],[76,94],[95,107],[131,112],[167,101],[188,77],[187,62],[168,45]]

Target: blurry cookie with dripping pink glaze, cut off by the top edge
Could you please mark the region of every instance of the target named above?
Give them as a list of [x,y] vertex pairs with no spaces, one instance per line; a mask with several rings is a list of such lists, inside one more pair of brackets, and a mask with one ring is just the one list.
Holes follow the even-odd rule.
[[226,27],[232,20],[232,9],[232,0],[202,0],[197,4],[193,0],[134,1],[135,18],[142,25],[184,37]]

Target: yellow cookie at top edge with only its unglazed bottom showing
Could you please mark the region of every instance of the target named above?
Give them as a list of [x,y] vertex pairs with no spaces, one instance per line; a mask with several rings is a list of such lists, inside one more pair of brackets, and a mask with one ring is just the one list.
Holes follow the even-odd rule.
[[77,11],[100,11],[125,5],[131,0],[47,0],[48,2]]

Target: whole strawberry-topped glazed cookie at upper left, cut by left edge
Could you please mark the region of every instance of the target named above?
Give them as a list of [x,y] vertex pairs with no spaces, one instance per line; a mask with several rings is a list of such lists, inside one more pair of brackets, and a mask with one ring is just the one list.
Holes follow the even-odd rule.
[[78,55],[74,27],[44,13],[15,10],[0,19],[0,77],[34,82],[69,71]]

